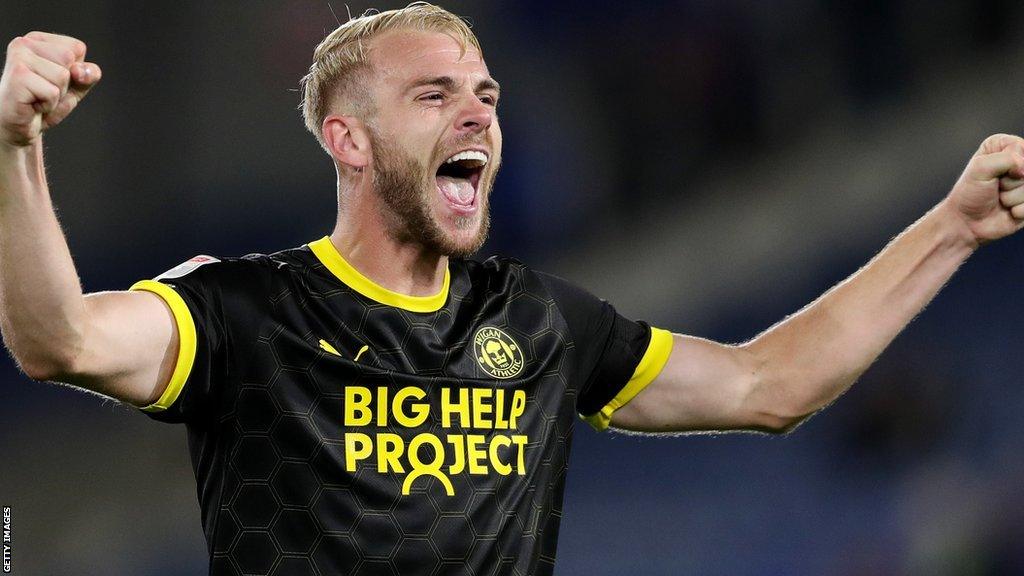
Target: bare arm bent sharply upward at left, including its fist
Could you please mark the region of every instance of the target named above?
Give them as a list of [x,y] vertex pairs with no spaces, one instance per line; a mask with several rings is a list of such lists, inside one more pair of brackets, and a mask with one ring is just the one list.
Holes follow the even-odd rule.
[[178,336],[146,292],[83,295],[50,202],[42,132],[100,78],[84,43],[32,32],[7,46],[0,77],[0,330],[20,368],[145,406],[163,392]]

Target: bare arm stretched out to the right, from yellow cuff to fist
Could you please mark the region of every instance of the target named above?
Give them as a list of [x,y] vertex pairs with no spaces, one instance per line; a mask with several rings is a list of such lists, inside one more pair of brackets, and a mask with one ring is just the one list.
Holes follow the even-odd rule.
[[611,425],[788,431],[850,387],[978,246],[1022,227],[1024,139],[989,136],[938,206],[799,313],[739,345],[674,335]]

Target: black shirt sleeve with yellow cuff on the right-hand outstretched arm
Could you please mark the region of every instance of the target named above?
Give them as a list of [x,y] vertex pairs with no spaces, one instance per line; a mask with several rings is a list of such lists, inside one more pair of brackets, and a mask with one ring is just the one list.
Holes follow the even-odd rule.
[[672,334],[620,315],[614,306],[561,278],[538,273],[568,324],[579,355],[577,412],[598,430],[662,372]]

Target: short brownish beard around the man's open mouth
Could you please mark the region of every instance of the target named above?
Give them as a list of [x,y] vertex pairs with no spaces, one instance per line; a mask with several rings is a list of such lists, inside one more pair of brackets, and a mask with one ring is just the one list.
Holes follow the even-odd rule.
[[[476,200],[478,212],[470,216],[457,216],[455,227],[466,231],[477,227],[476,234],[468,240],[450,235],[431,213],[437,194],[435,174],[397,147],[371,130],[374,151],[374,192],[383,205],[387,235],[396,242],[419,244],[428,251],[445,256],[465,258],[483,246],[490,230],[489,202],[496,168],[490,176],[480,175]],[[499,159],[494,159],[498,162]]]

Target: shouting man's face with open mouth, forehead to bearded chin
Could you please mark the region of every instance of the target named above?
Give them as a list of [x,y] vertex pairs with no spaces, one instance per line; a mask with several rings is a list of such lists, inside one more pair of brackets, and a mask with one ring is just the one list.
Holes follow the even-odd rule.
[[502,148],[497,83],[479,52],[460,52],[444,34],[376,38],[376,114],[367,123],[388,234],[452,256],[468,256],[486,239]]

